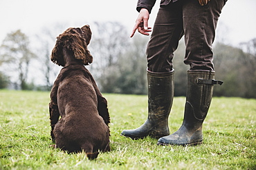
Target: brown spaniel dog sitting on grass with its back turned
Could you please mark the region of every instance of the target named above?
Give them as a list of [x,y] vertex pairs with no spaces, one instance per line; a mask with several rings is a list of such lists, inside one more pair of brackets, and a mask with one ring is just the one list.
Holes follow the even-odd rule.
[[49,109],[54,146],[68,153],[84,151],[94,159],[99,151],[110,151],[110,118],[107,100],[84,67],[93,62],[87,50],[90,40],[89,25],[68,28],[57,37],[51,61],[63,68],[53,84]]

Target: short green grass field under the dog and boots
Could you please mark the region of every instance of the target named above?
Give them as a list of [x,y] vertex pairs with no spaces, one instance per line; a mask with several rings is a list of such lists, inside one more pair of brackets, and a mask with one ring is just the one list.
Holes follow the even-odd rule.
[[[156,145],[120,136],[147,118],[147,96],[104,94],[111,115],[111,151],[90,161],[49,145],[49,92],[0,90],[0,169],[256,169],[256,100],[213,98],[196,147]],[[174,98],[174,132],[183,120],[184,97]]]

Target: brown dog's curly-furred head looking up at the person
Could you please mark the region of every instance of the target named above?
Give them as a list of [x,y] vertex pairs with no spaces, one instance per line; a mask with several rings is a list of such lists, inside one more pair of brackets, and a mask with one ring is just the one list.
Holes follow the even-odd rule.
[[84,25],[82,28],[68,28],[62,34],[57,36],[55,47],[51,54],[51,61],[57,65],[64,66],[63,52],[68,50],[75,59],[80,60],[84,65],[89,65],[93,62],[87,45],[91,41],[91,29],[89,25]]

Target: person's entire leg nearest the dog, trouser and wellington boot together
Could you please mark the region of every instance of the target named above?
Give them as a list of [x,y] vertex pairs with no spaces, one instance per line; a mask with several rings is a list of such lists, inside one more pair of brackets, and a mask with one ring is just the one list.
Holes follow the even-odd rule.
[[173,52],[183,35],[181,3],[161,7],[147,46],[148,117],[137,129],[123,136],[160,138],[169,135],[168,116],[174,96]]

